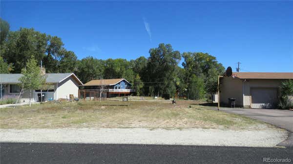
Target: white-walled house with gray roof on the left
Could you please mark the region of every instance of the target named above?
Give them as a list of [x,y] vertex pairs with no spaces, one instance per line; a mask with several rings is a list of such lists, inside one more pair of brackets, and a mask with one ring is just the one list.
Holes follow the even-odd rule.
[[[69,99],[69,95],[72,94],[74,97],[78,97],[78,89],[83,83],[74,73],[46,73],[46,83],[48,85],[47,90],[42,90],[45,94],[44,100],[53,98],[58,99]],[[0,74],[0,97],[18,97],[21,91],[21,85],[19,78],[23,76],[20,73],[13,74]],[[38,93],[41,90],[32,91],[32,101],[39,101]],[[24,90],[21,94],[21,102],[29,101],[29,91]]]

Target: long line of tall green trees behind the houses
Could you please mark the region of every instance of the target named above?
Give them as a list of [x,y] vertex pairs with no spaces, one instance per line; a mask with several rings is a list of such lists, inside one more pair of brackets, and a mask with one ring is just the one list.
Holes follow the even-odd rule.
[[[149,50],[149,56],[132,60],[97,59],[87,56],[81,60],[64,48],[62,39],[20,28],[9,31],[9,24],[0,24],[0,73],[21,73],[34,58],[42,60],[46,73],[75,73],[83,83],[93,79],[126,78],[137,95],[204,98],[217,90],[217,76],[225,68],[216,57],[201,52],[173,50],[161,43]],[[182,67],[179,63],[183,59]],[[40,64],[40,63],[39,63]]]

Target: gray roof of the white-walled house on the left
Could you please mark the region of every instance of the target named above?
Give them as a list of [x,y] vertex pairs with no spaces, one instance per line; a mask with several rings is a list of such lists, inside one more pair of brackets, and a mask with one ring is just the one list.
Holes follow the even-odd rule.
[[[47,83],[60,83],[69,76],[73,76],[76,79],[76,81],[83,85],[83,83],[78,79],[78,77],[74,73],[46,73],[46,75]],[[4,84],[20,83],[19,78],[21,76],[23,76],[21,73],[0,74],[0,82]]]

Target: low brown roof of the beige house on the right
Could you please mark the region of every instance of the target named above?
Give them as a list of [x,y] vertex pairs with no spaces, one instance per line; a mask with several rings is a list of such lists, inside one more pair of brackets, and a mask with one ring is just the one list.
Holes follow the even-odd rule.
[[232,76],[240,79],[293,79],[293,73],[233,73]]

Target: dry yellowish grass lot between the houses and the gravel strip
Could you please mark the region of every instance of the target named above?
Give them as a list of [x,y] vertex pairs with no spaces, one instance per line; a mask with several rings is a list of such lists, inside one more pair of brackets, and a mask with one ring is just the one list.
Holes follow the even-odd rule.
[[270,125],[210,110],[198,102],[80,101],[0,109],[0,128],[222,128],[262,129]]

